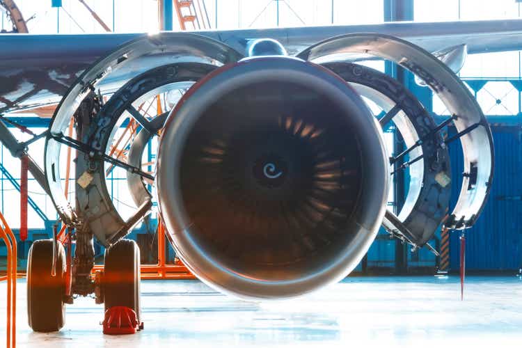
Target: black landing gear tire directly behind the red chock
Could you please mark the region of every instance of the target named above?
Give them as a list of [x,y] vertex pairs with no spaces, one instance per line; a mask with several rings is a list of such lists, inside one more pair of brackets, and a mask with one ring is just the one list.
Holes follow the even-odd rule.
[[121,239],[107,249],[103,284],[105,310],[116,306],[132,308],[141,323],[140,249],[136,242]]

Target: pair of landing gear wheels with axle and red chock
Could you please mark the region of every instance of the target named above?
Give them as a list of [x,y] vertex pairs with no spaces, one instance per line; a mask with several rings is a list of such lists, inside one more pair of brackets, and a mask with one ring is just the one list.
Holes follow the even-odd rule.
[[[80,242],[81,239],[76,240]],[[81,244],[77,244],[77,249],[84,247]],[[86,264],[83,258],[76,263]],[[27,267],[27,313],[33,331],[52,332],[63,327],[68,298],[66,266],[65,248],[60,242],[45,239],[31,246]],[[78,276],[80,267],[75,270],[73,273]],[[82,280],[84,278],[83,274],[74,278],[75,283],[85,283],[85,286],[73,286],[73,294],[88,296],[94,292],[97,303],[105,303],[104,333],[121,335],[143,329],[140,251],[136,242],[122,239],[111,246],[105,253],[104,272],[98,272],[95,281],[90,276]]]

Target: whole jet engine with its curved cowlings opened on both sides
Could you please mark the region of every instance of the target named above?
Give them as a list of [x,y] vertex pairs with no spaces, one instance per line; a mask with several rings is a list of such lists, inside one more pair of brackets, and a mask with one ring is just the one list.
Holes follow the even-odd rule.
[[[47,134],[45,187],[75,228],[72,293],[100,290],[90,278],[93,237],[136,258],[120,241],[150,214],[154,196],[176,256],[209,285],[247,299],[297,296],[340,280],[379,226],[413,249],[429,247],[441,224],[473,226],[491,187],[491,132],[438,58],[380,34],[330,38],[296,56],[284,56],[274,40],[247,48],[269,56],[244,58],[188,33],[143,36],[70,87]],[[368,55],[416,74],[451,116],[437,123],[398,81],[353,63]],[[457,134],[444,138],[450,124]],[[386,152],[382,129],[390,126],[403,150]],[[451,177],[447,146],[457,140],[460,178]],[[78,153],[74,200],[63,185],[62,148]],[[125,214],[107,180],[114,168],[134,202]],[[402,171],[404,202],[391,211],[388,186],[405,182],[394,176]],[[454,180],[461,191],[449,212]]]

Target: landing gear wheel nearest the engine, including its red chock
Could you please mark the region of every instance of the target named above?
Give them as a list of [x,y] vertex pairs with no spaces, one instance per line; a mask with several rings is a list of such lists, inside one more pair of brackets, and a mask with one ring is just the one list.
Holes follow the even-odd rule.
[[102,279],[104,333],[135,333],[143,329],[140,308],[140,251],[138,244],[121,239],[105,253]]

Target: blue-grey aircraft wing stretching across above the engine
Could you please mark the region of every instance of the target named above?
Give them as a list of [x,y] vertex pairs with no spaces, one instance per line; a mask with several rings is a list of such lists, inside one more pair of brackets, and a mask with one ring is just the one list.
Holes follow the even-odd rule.
[[[522,49],[521,19],[434,23],[387,22],[353,26],[194,33],[224,42],[240,54],[244,54],[251,40],[259,38],[278,40],[289,54],[295,55],[326,38],[347,33],[393,35],[413,42],[429,52],[462,44],[467,45],[470,54]],[[58,103],[77,76],[97,58],[140,35],[146,34],[0,34],[0,113]],[[158,57],[154,59],[157,65]],[[170,58],[163,59],[169,61]],[[134,69],[145,70],[146,65],[146,61],[136,62]],[[115,87],[128,80],[125,72],[119,77],[121,81],[112,81]]]

